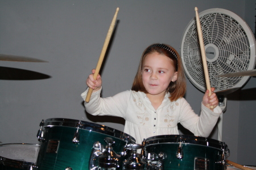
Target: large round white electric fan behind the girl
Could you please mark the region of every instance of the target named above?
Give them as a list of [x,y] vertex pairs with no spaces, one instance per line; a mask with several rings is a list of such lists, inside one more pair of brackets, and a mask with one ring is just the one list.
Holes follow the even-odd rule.
[[[240,16],[221,8],[200,12],[199,19],[210,87],[216,88],[217,95],[226,95],[238,90],[250,76],[220,77],[217,75],[254,69],[255,39],[253,33]],[[185,74],[189,81],[205,92],[205,75],[195,18],[185,28],[180,50]],[[222,111],[224,109],[225,107],[222,107]],[[218,135],[219,130],[220,125],[218,125]],[[218,136],[218,140],[221,141],[221,137]]]

